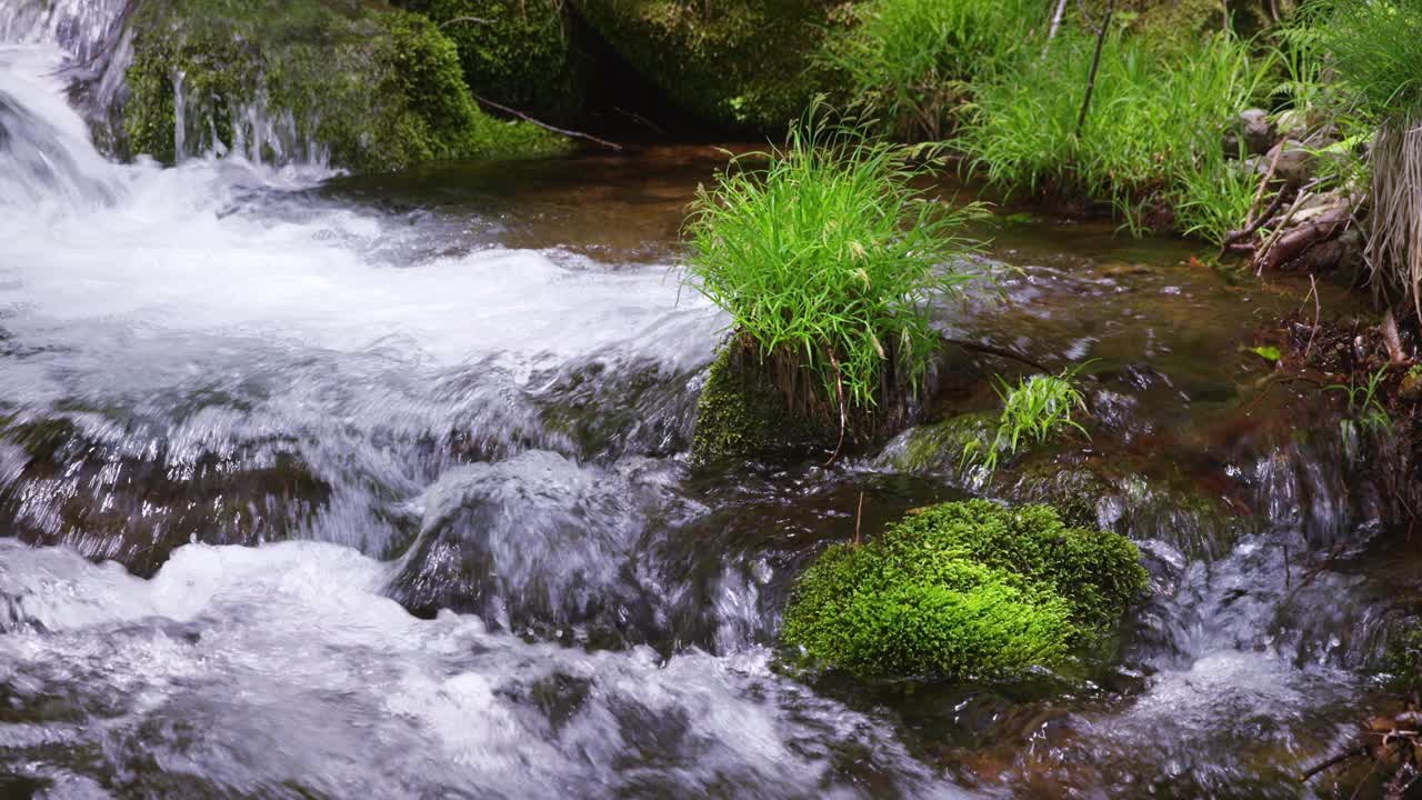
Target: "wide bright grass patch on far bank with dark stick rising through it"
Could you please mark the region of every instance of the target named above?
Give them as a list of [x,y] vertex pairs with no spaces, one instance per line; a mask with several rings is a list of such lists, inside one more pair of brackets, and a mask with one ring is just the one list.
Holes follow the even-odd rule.
[[1177,226],[1223,236],[1244,218],[1244,192],[1220,142],[1260,95],[1268,64],[1229,36],[1180,50],[1112,33],[1078,137],[1092,48],[1091,37],[1064,33],[1045,58],[981,83],[957,142],[970,169],[1012,191],[1109,202],[1133,229],[1163,206]]

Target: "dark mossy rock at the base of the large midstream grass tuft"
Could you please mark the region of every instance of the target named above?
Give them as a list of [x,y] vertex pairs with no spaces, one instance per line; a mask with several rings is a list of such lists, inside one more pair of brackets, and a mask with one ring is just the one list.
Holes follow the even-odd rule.
[[791,413],[754,346],[731,340],[721,349],[697,401],[693,463],[778,458],[826,441],[833,447],[828,431]]

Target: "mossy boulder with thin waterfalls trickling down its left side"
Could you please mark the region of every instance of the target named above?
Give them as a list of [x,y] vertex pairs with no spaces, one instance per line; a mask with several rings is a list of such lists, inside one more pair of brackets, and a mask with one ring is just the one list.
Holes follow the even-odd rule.
[[132,154],[239,151],[356,171],[550,152],[565,141],[481,112],[429,20],[321,0],[145,0],[132,13]]

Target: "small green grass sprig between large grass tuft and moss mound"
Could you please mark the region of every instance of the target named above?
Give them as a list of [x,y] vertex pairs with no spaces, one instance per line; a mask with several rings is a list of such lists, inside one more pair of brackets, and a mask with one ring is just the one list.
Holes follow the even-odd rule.
[[1003,413],[991,444],[983,447],[978,440],[968,440],[963,448],[963,465],[978,465],[993,474],[998,461],[1011,458],[1024,444],[1042,444],[1065,430],[1076,430],[1086,436],[1072,414],[1086,411],[1086,399],[1076,387],[1076,372],[1061,374],[1034,374],[1011,386],[997,377],[997,396],[1003,399]]

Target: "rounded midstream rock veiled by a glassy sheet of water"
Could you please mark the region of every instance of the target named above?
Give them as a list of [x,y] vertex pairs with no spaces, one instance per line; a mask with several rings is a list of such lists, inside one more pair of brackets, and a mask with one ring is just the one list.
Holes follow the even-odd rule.
[[419,535],[390,595],[419,615],[478,612],[520,632],[647,629],[634,558],[647,491],[546,451],[456,467],[417,501]]

